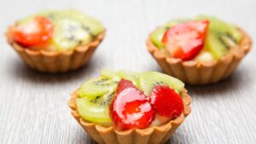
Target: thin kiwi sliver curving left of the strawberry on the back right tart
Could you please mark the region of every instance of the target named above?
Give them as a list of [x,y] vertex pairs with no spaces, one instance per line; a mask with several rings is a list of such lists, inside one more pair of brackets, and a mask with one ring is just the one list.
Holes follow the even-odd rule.
[[160,28],[157,28],[152,32],[150,40],[155,44],[157,48],[164,48],[164,43],[162,43],[162,38],[165,34],[165,32],[172,26],[175,26],[179,23],[188,21],[189,19],[177,19],[177,20],[171,20],[167,22],[166,26],[162,26]]

